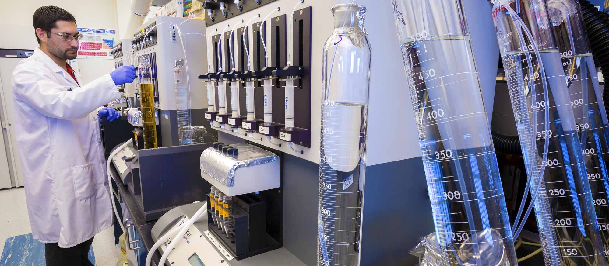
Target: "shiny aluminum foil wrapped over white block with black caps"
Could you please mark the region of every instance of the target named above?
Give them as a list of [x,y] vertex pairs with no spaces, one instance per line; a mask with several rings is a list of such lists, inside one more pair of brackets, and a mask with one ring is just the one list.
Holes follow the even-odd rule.
[[239,154],[233,158],[217,149],[207,148],[201,154],[199,168],[225,186],[234,185],[234,174],[239,168],[264,165],[278,160],[279,157],[270,151],[247,143],[230,145],[239,149]]

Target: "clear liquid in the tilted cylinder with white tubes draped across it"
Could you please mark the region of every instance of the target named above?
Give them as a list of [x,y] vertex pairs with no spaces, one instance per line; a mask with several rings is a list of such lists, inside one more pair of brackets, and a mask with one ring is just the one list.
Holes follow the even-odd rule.
[[[533,178],[530,188],[532,193],[538,189],[535,215],[544,259],[546,265],[552,266],[605,265],[599,250],[593,195],[576,130],[579,126],[574,123],[581,117],[572,114],[570,98],[574,95],[569,95],[572,92],[567,94],[563,90],[565,76],[558,50],[541,49],[540,56],[547,77],[548,103],[544,100],[542,77],[534,55],[529,61],[523,52],[503,53],[502,61],[512,104],[517,110],[517,124],[518,120],[532,121],[533,115],[537,118],[535,129],[519,128],[525,162],[537,159],[527,157],[543,153],[545,137],[549,137],[544,175]],[[529,63],[534,65],[529,67]],[[543,124],[546,106],[550,119],[547,130]],[[523,135],[526,132],[532,132],[528,135],[532,145],[528,145],[529,138]]]

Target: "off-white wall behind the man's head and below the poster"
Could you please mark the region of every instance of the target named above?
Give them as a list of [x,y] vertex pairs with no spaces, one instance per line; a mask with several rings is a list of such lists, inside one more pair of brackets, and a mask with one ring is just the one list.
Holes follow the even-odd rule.
[[[43,5],[57,5],[68,10],[76,18],[78,27],[118,30],[115,1],[2,1],[0,36],[3,37],[0,38],[0,48],[34,49],[38,47],[32,25],[32,15],[38,7]],[[79,67],[83,82],[89,83],[113,70],[114,62],[113,60],[79,59]]]

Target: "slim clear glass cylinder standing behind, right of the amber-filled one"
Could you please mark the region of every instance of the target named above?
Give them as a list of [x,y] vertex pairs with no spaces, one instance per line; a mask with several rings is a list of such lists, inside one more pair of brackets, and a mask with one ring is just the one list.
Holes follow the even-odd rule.
[[188,106],[189,96],[187,89],[186,67],[184,60],[175,60],[174,83],[175,83],[175,112],[178,120],[178,137],[180,145],[192,143],[192,135],[182,134],[183,129],[191,125],[190,108]]

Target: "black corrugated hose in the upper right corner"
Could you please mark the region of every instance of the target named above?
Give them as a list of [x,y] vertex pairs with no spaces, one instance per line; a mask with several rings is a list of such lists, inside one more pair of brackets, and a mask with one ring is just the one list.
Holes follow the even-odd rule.
[[[600,67],[604,80],[609,80],[609,15],[600,12],[587,0],[579,0],[582,6],[583,22],[586,24],[586,34],[590,40],[590,49],[594,55],[596,66]],[[603,90],[605,111],[609,115],[609,83],[605,82]]]

